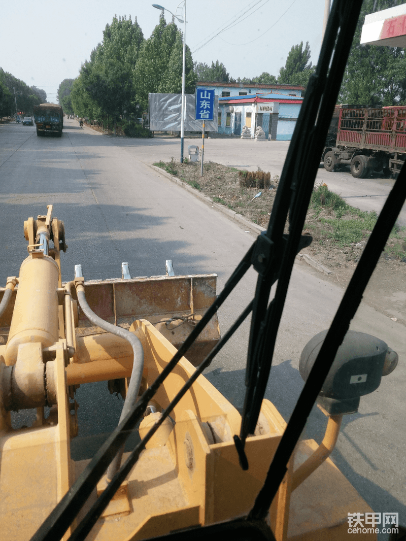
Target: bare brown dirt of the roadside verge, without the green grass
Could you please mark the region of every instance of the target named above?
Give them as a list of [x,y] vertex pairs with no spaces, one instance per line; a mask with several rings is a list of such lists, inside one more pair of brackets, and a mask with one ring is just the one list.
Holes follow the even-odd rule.
[[[267,226],[278,187],[277,176],[271,177],[269,188],[264,189],[257,187],[255,181],[251,187],[241,186],[238,170],[218,163],[205,163],[203,176],[200,176],[200,162],[181,164],[173,160],[155,165],[188,182],[211,197],[214,202],[232,208],[247,220],[262,227]],[[259,193],[261,195],[255,197]],[[320,226],[314,214],[314,211],[310,210],[306,216],[304,233],[310,233],[313,241],[302,253],[310,255],[312,259],[330,269],[331,274],[326,275],[311,267],[307,268],[323,280],[344,289],[357,266],[369,233],[365,232],[364,239],[359,243],[340,247],[336,242],[326,239],[325,229]],[[406,252],[402,258],[402,254],[401,257],[394,256],[389,250],[390,247],[385,249],[379,259],[365,291],[364,301],[388,317],[396,317],[398,321],[406,324]],[[303,264],[307,266],[306,263]]]

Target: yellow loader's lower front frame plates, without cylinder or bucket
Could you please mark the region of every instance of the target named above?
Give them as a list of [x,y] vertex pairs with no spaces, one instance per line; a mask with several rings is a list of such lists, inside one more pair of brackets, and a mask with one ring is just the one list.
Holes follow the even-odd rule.
[[[176,350],[148,321],[135,321],[131,331],[136,332],[143,343],[147,379],[152,382]],[[60,340],[56,349],[57,423],[19,431],[12,431],[3,423],[0,493],[8,494],[8,498],[1,499],[0,512],[9,528],[8,539],[16,535],[20,539],[29,539],[88,463],[70,460],[71,415],[66,374],[71,365],[64,368],[63,344],[64,340]],[[156,402],[166,407],[193,372],[194,367],[182,358],[156,394]],[[175,425],[166,445],[143,451],[127,479],[126,497],[130,512],[117,514],[113,503],[113,514],[109,515],[107,508],[107,517],[97,522],[88,539],[143,539],[176,527],[212,524],[244,516],[250,511],[285,427],[276,408],[264,400],[259,434],[247,439],[246,452],[250,463],[247,472],[239,466],[232,440],[232,435],[239,432],[240,415],[202,375],[171,416]],[[210,441],[207,423],[216,427],[215,437],[222,439],[218,443]],[[185,447],[192,453],[187,454]],[[298,456],[304,460],[316,448],[315,442],[302,443]],[[335,480],[334,494],[331,490],[329,493],[332,478]],[[33,479],[36,482],[33,483]],[[360,512],[370,511],[329,460],[292,494],[290,479],[291,470],[270,511],[270,524],[278,541],[340,539],[346,525],[343,511],[348,509],[349,501]],[[44,497],[44,494],[52,497]],[[339,498],[335,494],[339,494]],[[96,498],[96,492],[92,498]],[[31,512],[27,513],[27,508]],[[16,530],[11,517],[18,513],[28,520],[21,520]],[[320,516],[323,517],[321,522]],[[338,537],[326,537],[336,530]]]

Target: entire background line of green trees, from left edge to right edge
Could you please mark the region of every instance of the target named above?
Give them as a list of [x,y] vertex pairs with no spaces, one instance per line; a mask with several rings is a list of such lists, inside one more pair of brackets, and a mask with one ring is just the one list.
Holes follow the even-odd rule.
[[[404,50],[395,47],[361,45],[365,15],[390,8],[403,0],[364,0],[357,31],[346,66],[339,103],[406,104]],[[100,121],[125,122],[142,116],[148,108],[148,93],[181,93],[182,32],[174,18],[166,23],[163,11],[152,35],[145,39],[131,16],[114,16],[103,31],[103,41],[91,51],[76,79],[65,79],[58,88],[58,102],[67,114]],[[193,62],[186,45],[185,91],[193,94],[196,83],[239,82],[243,84],[293,84],[306,87],[316,66],[310,62],[309,42],[293,45],[278,76],[267,71],[252,78],[230,77],[224,64]],[[44,90],[28,87],[0,68],[0,114],[15,111],[15,87],[19,110],[32,111],[46,101]]]

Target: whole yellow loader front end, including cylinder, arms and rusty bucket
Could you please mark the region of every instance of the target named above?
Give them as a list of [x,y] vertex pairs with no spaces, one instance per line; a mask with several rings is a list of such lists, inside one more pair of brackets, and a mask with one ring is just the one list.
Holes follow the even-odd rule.
[[[51,210],[52,207],[48,207],[47,216],[38,216],[37,222],[32,219],[25,222],[24,232],[29,243],[34,245],[35,228],[49,230],[52,227],[54,242],[56,239],[53,253],[48,256],[31,249],[23,263],[26,270],[31,269],[28,278],[24,278],[21,285],[19,279],[11,277],[6,286],[13,289],[18,282],[20,292],[25,291],[27,298],[16,301],[14,291],[1,321],[3,331],[0,334],[4,343],[11,316],[14,317],[15,303],[20,307],[17,312],[22,315],[17,314],[13,328],[17,329],[14,335],[23,332],[22,341],[15,341],[12,353],[7,345],[0,345],[0,516],[3,519],[0,541],[29,539],[88,464],[86,460],[75,462],[70,457],[70,441],[76,434],[77,419],[76,405],[70,403],[69,397],[75,386],[127,378],[132,371],[132,351],[125,341],[78,322],[75,291],[71,283],[62,287],[60,279],[58,235],[61,230],[63,238],[63,224],[51,220]],[[57,279],[55,275],[49,278],[47,270],[55,267],[54,259],[59,269]],[[21,308],[24,302],[31,302],[30,291],[38,292],[37,267],[42,269],[40,278],[43,282],[39,295],[40,329],[34,324],[30,326],[30,319],[35,319],[32,307],[29,313],[34,315],[29,317]],[[167,323],[184,321],[184,317],[187,324],[199,320],[208,300],[215,295],[215,275],[174,279],[153,277],[113,281],[107,285],[91,283],[87,292],[90,304],[99,306],[99,315],[129,327],[140,338],[145,351],[143,386],[147,386],[155,381],[176,352],[175,345],[169,340],[178,325],[171,327]],[[52,311],[48,310],[49,296],[54,299]],[[134,306],[141,313],[134,313]],[[168,311],[163,307],[169,308]],[[142,317],[142,311],[146,312],[149,321],[136,319]],[[185,311],[189,312],[186,316],[182,315]],[[205,357],[213,340],[218,340],[217,318],[212,319],[211,325],[208,334],[192,352],[195,362]],[[49,344],[47,337],[43,338],[49,329],[53,329],[53,344]],[[187,326],[182,327],[176,340],[181,342],[183,335],[186,337],[186,329]],[[32,362],[30,352],[35,353]],[[38,366],[37,357],[43,364],[40,362]],[[12,394],[12,370],[26,365],[30,370],[32,368],[36,386],[42,378],[46,380],[46,388],[42,391],[44,396],[47,395],[48,403],[56,405],[51,407],[47,419],[44,418],[44,405],[38,406],[37,419],[31,427],[14,429],[10,413],[6,411],[6,408],[12,409],[5,406],[10,404],[6,394]],[[155,394],[154,406],[158,410],[166,408],[194,370],[191,362],[182,357]],[[28,373],[28,394],[30,378]],[[27,403],[30,399],[28,397]],[[41,394],[38,400],[41,400]],[[88,540],[135,541],[187,526],[209,525],[246,516],[252,509],[286,426],[273,404],[269,400],[263,401],[256,433],[247,438],[245,451],[250,465],[247,471],[239,466],[232,439],[240,430],[240,414],[202,375],[174,407],[171,417],[172,421],[166,421],[166,432],[162,425],[154,445],[151,440],[141,453]],[[331,460],[326,459],[337,439],[338,421],[329,419],[322,445],[318,446],[313,440],[298,445],[269,512],[269,523],[277,541],[340,541],[346,535],[348,509],[361,513],[371,511]],[[102,486],[103,479],[99,491]],[[96,498],[97,489],[77,520]],[[75,527],[75,522],[71,527]],[[69,535],[70,529],[64,539]],[[367,533],[353,538],[372,540],[376,536]]]

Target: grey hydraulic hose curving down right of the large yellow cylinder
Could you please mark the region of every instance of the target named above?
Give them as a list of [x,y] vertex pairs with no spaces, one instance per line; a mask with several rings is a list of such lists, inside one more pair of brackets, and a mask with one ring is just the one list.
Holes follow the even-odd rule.
[[[139,340],[139,338],[135,336],[135,334],[130,333],[129,331],[121,327],[117,327],[116,325],[112,325],[108,321],[104,321],[93,312],[93,310],[87,304],[86,297],[84,295],[84,286],[83,286],[82,281],[77,281],[76,279],[75,285],[76,285],[77,300],[84,315],[86,315],[86,317],[94,325],[97,325],[97,327],[100,327],[101,329],[103,329],[103,331],[110,332],[112,334],[115,334],[118,337],[121,337],[127,340],[133,348],[133,353],[134,353],[133,370],[131,373],[131,379],[130,379],[130,384],[128,386],[126,400],[124,402],[124,406],[120,415],[120,421],[119,421],[119,425],[120,425],[121,421],[132,410],[132,407],[135,404],[136,399],[138,397],[138,393],[139,393],[140,385],[141,385],[141,379],[142,379],[142,372],[144,368],[144,350],[143,350],[141,341]],[[116,472],[119,471],[120,469],[123,451],[124,451],[124,445],[117,452],[115,458],[112,460],[112,463],[108,467],[108,470],[107,470],[108,483],[110,480],[113,479]]]

